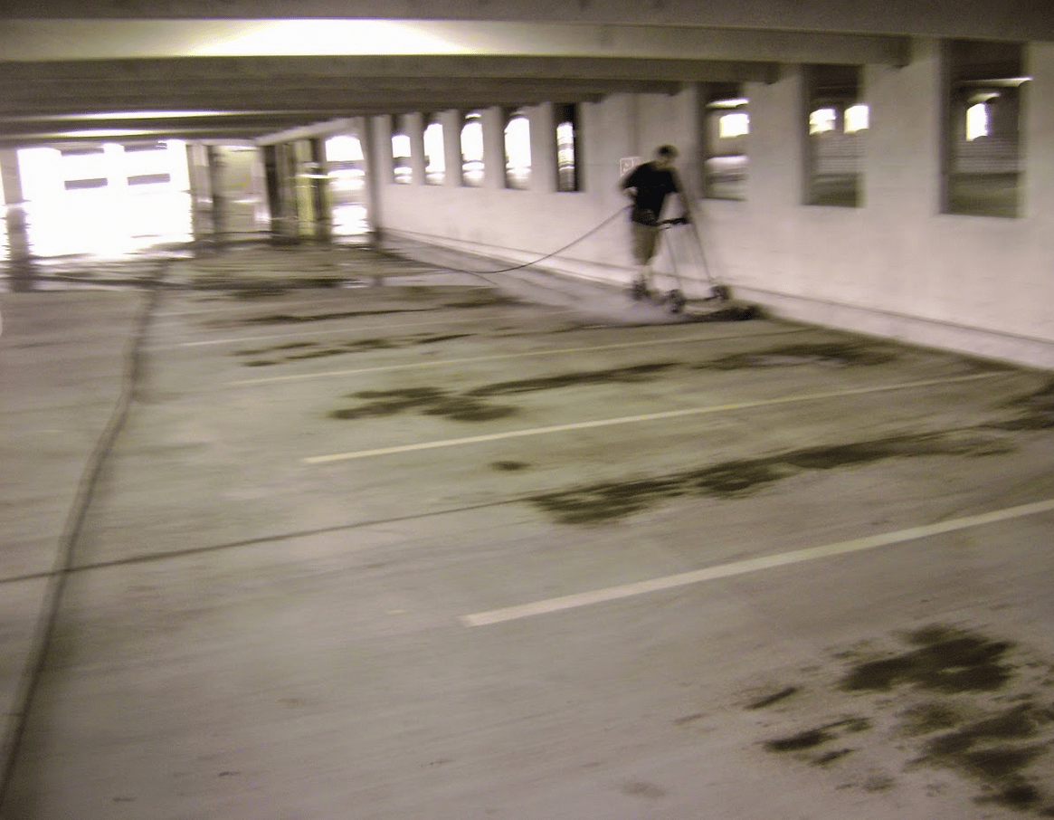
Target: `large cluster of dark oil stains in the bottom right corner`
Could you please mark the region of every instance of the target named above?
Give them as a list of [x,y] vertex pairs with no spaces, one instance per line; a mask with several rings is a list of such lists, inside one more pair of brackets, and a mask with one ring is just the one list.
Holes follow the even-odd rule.
[[[809,686],[796,682],[746,704],[769,712],[761,747],[844,777],[839,788],[895,788],[898,767],[940,770],[980,805],[1054,817],[1054,666],[1012,641],[943,625],[882,643],[835,652],[819,673],[814,667]],[[801,696],[837,712],[799,718],[808,708],[798,708]],[[792,728],[773,737],[774,722]],[[865,747],[893,767],[854,768]],[[872,787],[876,779],[882,789]]]

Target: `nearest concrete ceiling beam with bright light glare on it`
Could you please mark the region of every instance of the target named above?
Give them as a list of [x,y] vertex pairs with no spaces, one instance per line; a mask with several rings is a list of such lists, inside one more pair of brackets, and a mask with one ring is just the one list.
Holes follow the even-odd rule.
[[685,25],[392,20],[11,20],[8,61],[471,55],[896,63],[906,38]]

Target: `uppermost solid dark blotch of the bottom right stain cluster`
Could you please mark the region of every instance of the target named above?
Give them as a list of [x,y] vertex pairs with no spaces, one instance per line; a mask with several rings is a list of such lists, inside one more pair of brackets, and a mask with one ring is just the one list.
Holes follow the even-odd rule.
[[[1002,663],[1012,643],[974,634],[930,632],[928,643],[919,649],[858,664],[842,680],[841,688],[887,691],[910,685],[951,695],[995,691],[1012,677],[1013,669]],[[918,638],[916,633],[913,643]]]

